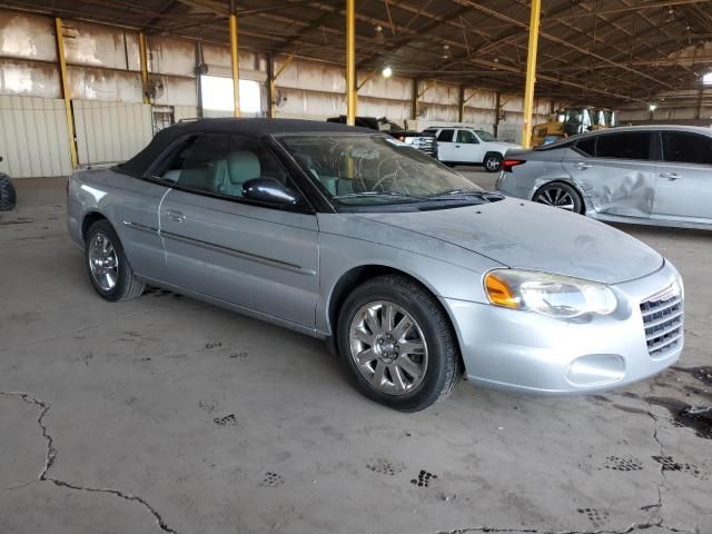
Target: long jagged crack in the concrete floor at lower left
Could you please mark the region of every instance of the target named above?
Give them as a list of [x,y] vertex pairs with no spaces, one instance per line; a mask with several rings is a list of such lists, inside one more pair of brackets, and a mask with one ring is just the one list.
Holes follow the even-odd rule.
[[[34,397],[33,395],[29,394],[29,393],[24,393],[24,392],[0,392],[0,395],[4,395],[8,397],[20,397],[22,400],[24,400],[26,403],[29,404],[33,404],[36,406],[39,406],[41,408],[40,411],[40,415],[37,418],[37,423],[40,426],[40,428],[42,429],[42,437],[44,437],[46,442],[47,442],[47,447],[44,449],[44,467],[42,468],[42,471],[40,472],[40,474],[38,475],[38,477],[34,481],[30,481],[26,484],[22,484],[20,486],[14,486],[14,488],[18,487],[22,487],[26,486],[27,484],[31,484],[32,482],[49,482],[55,484],[56,486],[59,487],[66,487],[68,490],[75,490],[75,491],[79,491],[79,492],[89,492],[89,493],[105,493],[105,494],[109,494],[109,495],[115,495],[117,497],[120,497],[125,501],[130,501],[130,502],[135,502],[135,503],[139,503],[140,505],[142,505],[152,516],[154,520],[156,521],[156,524],[158,525],[158,527],[164,531],[167,532],[169,534],[179,534],[178,531],[176,531],[175,528],[170,527],[166,521],[164,520],[164,517],[158,513],[158,511],[156,508],[154,508],[144,497],[140,497],[138,495],[135,495],[132,493],[125,493],[121,492],[119,490],[113,490],[110,487],[90,487],[90,486],[82,486],[79,484],[72,484],[70,482],[66,482],[62,481],[60,478],[55,478],[52,476],[49,476],[49,469],[52,467],[52,465],[55,464],[55,459],[57,459],[57,448],[55,447],[55,439],[52,438],[52,435],[49,433],[47,425],[44,425],[44,417],[47,416],[47,414],[49,413],[49,409],[51,407],[51,405],[44,400],[40,400],[37,397]],[[10,488],[8,488],[10,490]]]

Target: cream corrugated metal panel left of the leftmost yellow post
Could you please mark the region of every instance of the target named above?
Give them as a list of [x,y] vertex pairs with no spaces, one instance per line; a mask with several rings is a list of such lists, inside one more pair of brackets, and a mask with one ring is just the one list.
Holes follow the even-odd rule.
[[0,96],[0,171],[12,177],[71,171],[65,101]]

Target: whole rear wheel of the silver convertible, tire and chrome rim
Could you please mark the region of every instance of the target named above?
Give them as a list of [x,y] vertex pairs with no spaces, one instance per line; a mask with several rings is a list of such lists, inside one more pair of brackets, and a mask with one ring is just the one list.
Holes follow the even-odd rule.
[[146,289],[134,275],[119,236],[106,219],[91,225],[87,233],[85,263],[93,288],[105,300],[131,300]]

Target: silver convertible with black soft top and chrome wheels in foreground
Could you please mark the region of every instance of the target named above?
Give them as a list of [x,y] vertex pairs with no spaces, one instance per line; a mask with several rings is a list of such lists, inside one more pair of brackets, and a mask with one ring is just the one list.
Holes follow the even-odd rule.
[[208,119],[69,181],[97,293],[156,285],[325,338],[368,397],[425,408],[463,373],[517,392],[646,378],[683,344],[683,286],[597,221],[485,192],[383,134]]

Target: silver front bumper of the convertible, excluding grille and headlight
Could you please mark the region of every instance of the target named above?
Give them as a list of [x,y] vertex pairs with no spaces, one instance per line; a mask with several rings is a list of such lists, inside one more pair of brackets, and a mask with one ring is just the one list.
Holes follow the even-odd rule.
[[665,261],[651,275],[611,286],[620,301],[614,314],[585,319],[448,298],[442,303],[453,318],[468,380],[524,393],[590,394],[642,380],[678,360],[682,337],[651,356],[641,303],[679,278]]

